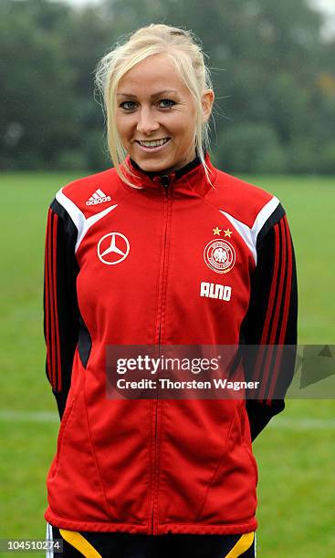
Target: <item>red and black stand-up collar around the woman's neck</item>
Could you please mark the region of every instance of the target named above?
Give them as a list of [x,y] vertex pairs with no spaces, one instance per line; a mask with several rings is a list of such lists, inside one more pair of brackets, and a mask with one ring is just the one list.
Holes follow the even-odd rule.
[[[205,153],[204,160],[209,169],[209,176],[211,178],[212,184],[215,182],[216,170],[212,165],[208,152]],[[168,186],[172,188],[173,191],[195,191],[197,193],[205,193],[209,188],[211,188],[210,183],[204,173],[204,167],[198,156],[194,160],[187,163],[182,169],[170,172],[168,174],[157,174],[152,171],[143,171],[139,165],[130,158],[128,155],[126,158],[126,163],[129,165],[131,172],[134,176],[130,175],[125,167],[121,165],[121,169],[124,174],[129,178],[129,180],[141,190],[145,189],[147,191],[162,191],[164,187]],[[127,186],[127,184],[125,184]],[[131,188],[131,187],[130,187]],[[131,189],[135,190],[135,189]]]

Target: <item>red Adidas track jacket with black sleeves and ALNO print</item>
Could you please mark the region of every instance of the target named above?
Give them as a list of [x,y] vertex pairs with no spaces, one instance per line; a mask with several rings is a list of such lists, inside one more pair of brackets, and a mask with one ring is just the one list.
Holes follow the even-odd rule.
[[[107,345],[297,341],[282,206],[206,161],[213,186],[198,158],[161,177],[130,160],[141,189],[110,169],[69,183],[51,203],[45,336],[61,425],[45,518],[57,527],[256,529],[251,440],[282,399],[106,398]],[[229,295],[215,297],[217,284]]]

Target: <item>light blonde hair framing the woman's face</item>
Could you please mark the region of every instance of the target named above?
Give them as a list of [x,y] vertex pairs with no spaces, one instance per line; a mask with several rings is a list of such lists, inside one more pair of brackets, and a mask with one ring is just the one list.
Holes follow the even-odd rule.
[[124,149],[115,126],[116,92],[120,79],[139,62],[155,54],[166,54],[173,61],[184,84],[191,91],[196,107],[195,149],[204,166],[205,176],[209,178],[209,168],[204,160],[209,147],[209,123],[203,122],[201,98],[204,90],[213,88],[209,69],[204,63],[204,53],[197,43],[197,37],[191,31],[164,24],[151,24],[141,27],[129,36],[123,44],[117,43],[107,55],[99,60],[96,68],[95,83],[103,98],[107,117],[107,140],[110,158],[120,178],[130,186],[137,188],[125,176],[120,167],[131,176],[125,159]]

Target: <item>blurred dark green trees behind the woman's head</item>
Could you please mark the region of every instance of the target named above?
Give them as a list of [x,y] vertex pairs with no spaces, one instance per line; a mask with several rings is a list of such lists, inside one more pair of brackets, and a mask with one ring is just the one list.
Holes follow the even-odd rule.
[[191,29],[212,69],[215,163],[335,171],[335,39],[307,0],[1,0],[0,171],[110,166],[94,68],[149,23]]

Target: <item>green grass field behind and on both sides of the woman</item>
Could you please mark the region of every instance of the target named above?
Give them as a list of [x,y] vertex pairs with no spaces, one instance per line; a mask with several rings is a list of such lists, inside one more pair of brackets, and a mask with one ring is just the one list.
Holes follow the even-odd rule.
[[[1,176],[0,538],[45,535],[45,479],[58,419],[45,376],[44,234],[49,202],[73,178]],[[275,193],[288,213],[298,263],[299,344],[335,344],[333,179],[244,178]],[[288,400],[256,439],[258,556],[335,555],[334,415],[334,400]]]

